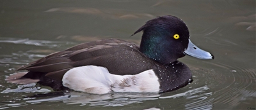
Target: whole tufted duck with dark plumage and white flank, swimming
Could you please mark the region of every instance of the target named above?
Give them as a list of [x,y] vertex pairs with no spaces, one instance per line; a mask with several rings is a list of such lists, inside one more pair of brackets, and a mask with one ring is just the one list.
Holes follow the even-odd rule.
[[[29,72],[6,80],[88,93],[168,92],[186,86],[192,79],[191,72],[177,58],[184,57],[184,53],[197,56],[184,52],[191,43],[184,22],[173,16],[158,17],[134,34],[140,31],[144,32],[140,47],[119,39],[83,43],[20,67],[18,70]],[[213,58],[207,52],[199,54]]]

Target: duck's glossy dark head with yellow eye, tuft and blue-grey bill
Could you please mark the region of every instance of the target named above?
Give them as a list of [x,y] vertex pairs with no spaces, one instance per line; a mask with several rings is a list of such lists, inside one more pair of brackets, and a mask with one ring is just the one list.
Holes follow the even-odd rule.
[[[213,59],[213,55],[196,47],[189,37],[187,25],[171,15],[149,20],[134,34],[143,31],[140,51],[162,64],[170,64],[180,57]],[[132,35],[134,35],[132,34]]]

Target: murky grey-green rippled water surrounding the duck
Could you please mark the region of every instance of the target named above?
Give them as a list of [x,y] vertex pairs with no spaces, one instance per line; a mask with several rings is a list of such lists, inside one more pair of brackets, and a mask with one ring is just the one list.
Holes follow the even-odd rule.
[[[255,1],[1,1],[0,109],[256,109]],[[56,93],[4,78],[21,65],[70,46],[131,36],[161,15],[182,18],[191,41],[214,60],[180,58],[193,83],[162,94]]]

